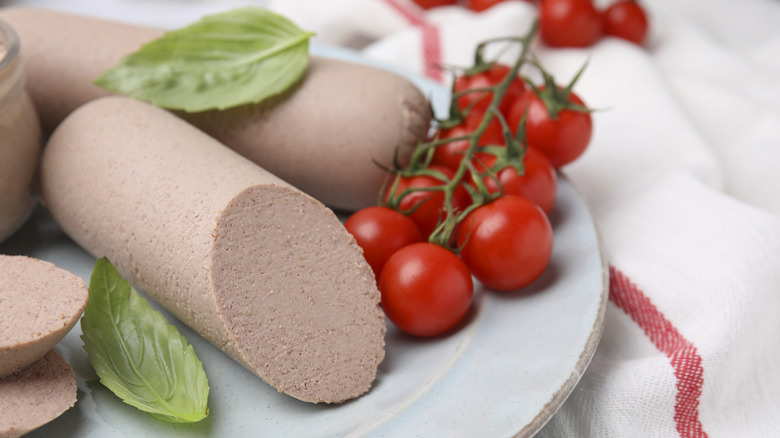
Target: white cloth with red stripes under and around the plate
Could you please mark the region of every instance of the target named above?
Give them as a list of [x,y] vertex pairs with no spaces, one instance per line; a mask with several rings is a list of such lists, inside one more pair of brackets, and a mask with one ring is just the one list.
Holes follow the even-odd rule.
[[[269,6],[316,41],[434,77],[431,53],[468,65],[478,41],[536,17],[523,1],[483,13],[409,0],[14,3],[163,27]],[[534,47],[562,82],[589,62],[575,90],[599,109],[594,137],[564,172],[612,267],[602,342],[539,435],[780,436],[780,2],[642,4],[644,48]]]

